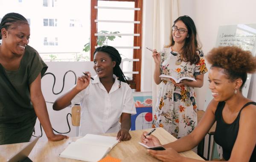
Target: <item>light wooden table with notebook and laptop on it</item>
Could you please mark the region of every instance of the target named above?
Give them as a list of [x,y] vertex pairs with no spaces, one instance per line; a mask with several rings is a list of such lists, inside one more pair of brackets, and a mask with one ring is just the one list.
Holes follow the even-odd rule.
[[[152,133],[160,139],[162,144],[173,142],[176,140],[174,136],[169,134],[163,128],[156,128],[157,130]],[[139,145],[140,136],[143,131],[146,130],[134,130],[130,131],[131,140],[122,141],[118,143],[109,153],[109,156],[121,159],[122,162],[159,162],[159,160],[152,157],[146,148]],[[104,134],[105,136],[116,136],[116,133]],[[58,155],[69,145],[69,142],[74,142],[81,137],[70,137],[58,142],[51,141],[38,141],[31,153],[29,158],[33,162],[79,162],[78,160],[66,159],[58,157]],[[0,162],[6,161],[12,154],[20,150],[26,143],[18,143],[11,145],[0,145]],[[190,157],[193,159],[202,159],[192,150],[180,153],[182,156]]]

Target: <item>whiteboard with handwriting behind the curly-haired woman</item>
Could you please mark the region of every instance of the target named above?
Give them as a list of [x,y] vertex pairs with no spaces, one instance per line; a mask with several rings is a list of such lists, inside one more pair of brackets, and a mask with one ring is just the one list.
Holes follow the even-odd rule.
[[[238,24],[219,26],[216,41],[218,46],[239,46],[241,49],[249,50],[256,55],[256,24]],[[250,87],[251,74],[247,75],[247,80],[242,89],[242,94],[247,97]],[[204,103],[204,111],[212,100],[212,93],[207,88],[207,95]]]

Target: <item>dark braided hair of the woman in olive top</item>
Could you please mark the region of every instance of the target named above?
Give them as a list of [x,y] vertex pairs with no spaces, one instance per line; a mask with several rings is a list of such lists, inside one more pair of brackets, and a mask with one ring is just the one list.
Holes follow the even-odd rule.
[[14,23],[28,23],[28,20],[24,16],[18,13],[8,13],[4,15],[3,19],[1,20],[0,23],[0,39],[2,39],[2,33],[1,30],[5,28],[8,30],[8,28],[13,25]]

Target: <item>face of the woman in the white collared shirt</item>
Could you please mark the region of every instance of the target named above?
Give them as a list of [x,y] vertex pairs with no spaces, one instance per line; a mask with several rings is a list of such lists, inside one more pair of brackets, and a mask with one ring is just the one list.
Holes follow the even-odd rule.
[[96,52],[93,58],[93,69],[99,78],[112,77],[113,67],[116,61],[112,61],[111,57],[105,52]]

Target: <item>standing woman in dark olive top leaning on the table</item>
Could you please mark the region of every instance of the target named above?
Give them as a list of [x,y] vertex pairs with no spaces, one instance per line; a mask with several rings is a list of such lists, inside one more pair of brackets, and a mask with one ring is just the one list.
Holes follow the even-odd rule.
[[37,117],[50,141],[67,138],[52,131],[41,92],[47,65],[28,46],[28,21],[17,13],[6,14],[0,31],[0,145],[29,142]]

